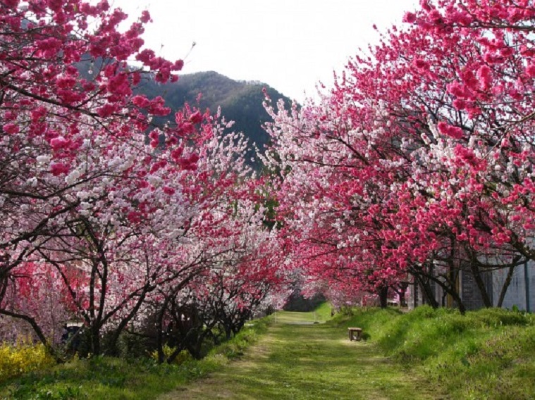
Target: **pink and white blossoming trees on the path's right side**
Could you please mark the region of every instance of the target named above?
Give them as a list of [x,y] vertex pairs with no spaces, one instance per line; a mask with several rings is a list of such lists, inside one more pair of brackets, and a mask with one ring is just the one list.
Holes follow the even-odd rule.
[[535,8],[422,0],[315,103],[266,109],[264,158],[289,262],[340,296],[433,285],[535,260]]

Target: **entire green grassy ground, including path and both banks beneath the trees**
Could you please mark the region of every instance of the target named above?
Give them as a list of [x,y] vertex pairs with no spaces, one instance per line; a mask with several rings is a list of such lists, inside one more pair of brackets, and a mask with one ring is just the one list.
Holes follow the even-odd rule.
[[[0,383],[0,398],[534,399],[535,315],[424,306],[358,309],[314,324],[329,312],[324,304],[316,313],[277,313],[271,326],[255,322],[202,361],[99,357],[27,373]],[[366,342],[348,341],[352,325]]]

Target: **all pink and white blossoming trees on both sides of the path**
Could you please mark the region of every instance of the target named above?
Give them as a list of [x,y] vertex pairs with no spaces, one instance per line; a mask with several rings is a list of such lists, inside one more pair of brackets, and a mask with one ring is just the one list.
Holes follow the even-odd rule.
[[4,338],[53,349],[76,320],[93,354],[131,332],[172,361],[280,302],[295,271],[340,303],[417,282],[464,311],[461,271],[492,306],[484,274],[505,270],[500,305],[535,260],[529,1],[422,0],[320,101],[268,101],[262,178],[219,113],[156,124],[171,109],[135,89],[183,62],[143,48],[147,12],[125,18],[106,0],[0,1]]

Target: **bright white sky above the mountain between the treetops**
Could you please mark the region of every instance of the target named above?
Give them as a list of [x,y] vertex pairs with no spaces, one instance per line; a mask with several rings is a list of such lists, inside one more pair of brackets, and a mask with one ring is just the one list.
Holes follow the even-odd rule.
[[[149,10],[147,47],[182,73],[214,70],[235,80],[259,80],[290,98],[331,85],[360,48],[400,24],[417,0],[110,0],[131,17]],[[192,43],[196,46],[190,51]]]

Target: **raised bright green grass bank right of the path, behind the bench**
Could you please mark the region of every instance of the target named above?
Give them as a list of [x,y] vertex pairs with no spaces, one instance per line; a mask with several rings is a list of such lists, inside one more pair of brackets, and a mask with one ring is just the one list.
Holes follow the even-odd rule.
[[400,365],[426,375],[455,399],[535,398],[535,316],[496,308],[422,306],[357,310],[337,326],[360,325]]

